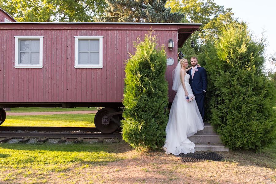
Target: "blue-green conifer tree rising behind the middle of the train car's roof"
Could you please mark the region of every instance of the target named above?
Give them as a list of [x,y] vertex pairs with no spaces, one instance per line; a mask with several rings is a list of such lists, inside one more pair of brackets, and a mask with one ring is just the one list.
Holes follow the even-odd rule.
[[165,8],[166,0],[106,0],[108,7],[101,22],[179,22],[181,13]]

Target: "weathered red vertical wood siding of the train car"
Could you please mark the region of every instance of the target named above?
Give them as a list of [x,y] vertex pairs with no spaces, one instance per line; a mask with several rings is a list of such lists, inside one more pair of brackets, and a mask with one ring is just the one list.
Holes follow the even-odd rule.
[[[9,27],[11,26],[11,27]],[[22,29],[24,25],[0,25],[0,102],[122,102],[124,90],[124,66],[128,53],[135,53],[133,41],[148,33],[151,25],[143,29],[131,30],[94,29],[90,25],[79,25],[85,29],[49,29],[56,25],[44,25],[45,29]],[[33,26],[35,25],[28,25]],[[41,26],[41,25],[39,25]],[[60,26],[60,25],[58,25]],[[160,26],[160,25],[159,25]],[[174,65],[167,66],[169,98],[172,102],[175,93],[171,90],[172,70],[177,64],[178,26],[160,26],[156,30],[158,44],[173,39],[175,47],[167,48],[167,58],[174,59]],[[164,28],[166,27],[166,28]],[[89,28],[89,29],[88,29]],[[14,68],[14,36],[44,36],[43,68]],[[74,36],[103,36],[103,68],[74,68]]]

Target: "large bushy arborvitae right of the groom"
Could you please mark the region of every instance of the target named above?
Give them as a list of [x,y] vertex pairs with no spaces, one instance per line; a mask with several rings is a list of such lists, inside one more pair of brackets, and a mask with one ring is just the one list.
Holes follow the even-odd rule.
[[275,87],[263,74],[264,42],[254,41],[244,23],[222,30],[206,70],[212,99],[211,124],[230,149],[261,150],[276,134]]

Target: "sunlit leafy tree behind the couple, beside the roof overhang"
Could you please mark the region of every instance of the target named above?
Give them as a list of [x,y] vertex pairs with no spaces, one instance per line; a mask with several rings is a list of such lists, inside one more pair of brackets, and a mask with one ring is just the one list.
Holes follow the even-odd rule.
[[[170,7],[172,12],[182,13],[182,23],[202,23],[200,29],[179,48],[187,59],[191,56],[201,58],[199,63],[202,66],[205,65],[202,53],[213,46],[224,25],[236,21],[231,8],[224,9],[224,6],[217,5],[214,0],[169,0],[166,7]],[[190,46],[192,40],[195,43],[194,48]]]

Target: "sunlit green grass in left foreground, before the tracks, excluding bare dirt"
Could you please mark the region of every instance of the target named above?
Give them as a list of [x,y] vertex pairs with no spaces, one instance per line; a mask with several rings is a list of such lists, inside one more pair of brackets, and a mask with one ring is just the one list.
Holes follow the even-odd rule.
[[[125,145],[123,147],[128,149]],[[0,183],[75,183],[76,179],[86,180],[79,177],[84,168],[125,159],[124,153],[120,153],[125,152],[123,147],[120,143],[74,146],[0,144]],[[91,173],[92,177],[96,175]]]

